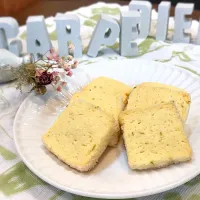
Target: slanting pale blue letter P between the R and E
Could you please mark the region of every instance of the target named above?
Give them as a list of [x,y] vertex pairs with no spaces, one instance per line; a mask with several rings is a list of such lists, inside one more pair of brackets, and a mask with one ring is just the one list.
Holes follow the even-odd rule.
[[120,27],[115,19],[102,14],[93,32],[87,55],[96,57],[102,44],[113,45],[119,36]]

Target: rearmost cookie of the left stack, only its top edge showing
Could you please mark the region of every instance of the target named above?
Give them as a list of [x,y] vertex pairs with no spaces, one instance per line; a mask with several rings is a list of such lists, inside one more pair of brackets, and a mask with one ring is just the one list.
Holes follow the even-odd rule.
[[91,83],[83,88],[84,91],[95,91],[101,94],[110,94],[118,97],[122,97],[124,103],[127,103],[127,98],[132,88],[124,83],[117,80],[99,77],[94,79]]

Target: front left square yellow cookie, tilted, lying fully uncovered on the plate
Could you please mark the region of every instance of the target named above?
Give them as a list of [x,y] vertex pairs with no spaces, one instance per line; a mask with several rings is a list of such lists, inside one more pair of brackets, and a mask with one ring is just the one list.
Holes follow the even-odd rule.
[[96,165],[115,132],[112,116],[79,100],[60,114],[42,140],[67,165],[88,171]]

